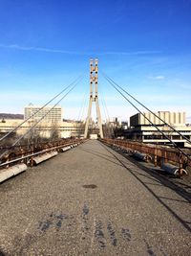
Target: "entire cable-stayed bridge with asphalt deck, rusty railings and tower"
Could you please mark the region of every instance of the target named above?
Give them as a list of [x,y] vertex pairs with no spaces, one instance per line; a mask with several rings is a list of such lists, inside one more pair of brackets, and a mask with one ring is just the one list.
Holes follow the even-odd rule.
[[[2,144],[0,255],[191,253],[188,151],[162,130],[172,148],[107,135],[98,105],[96,65],[91,60],[84,138],[27,143],[25,136],[39,120],[13,143]],[[128,99],[123,88],[104,76]],[[97,140],[90,140],[94,102],[99,132]]]

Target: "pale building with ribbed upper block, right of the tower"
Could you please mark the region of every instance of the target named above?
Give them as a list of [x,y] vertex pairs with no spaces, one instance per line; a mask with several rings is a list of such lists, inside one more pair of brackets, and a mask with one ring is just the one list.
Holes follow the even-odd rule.
[[[168,136],[174,143],[180,147],[191,147],[178,132],[172,130],[168,126],[164,125],[155,115],[152,113],[140,113],[130,117],[130,127],[125,132],[125,137],[128,139],[141,141],[144,143],[152,144],[171,144],[169,140],[162,135],[158,128]],[[191,140],[191,127],[185,125],[185,112],[170,112],[159,111],[155,113],[159,118],[169,124],[171,127],[178,130],[182,135]],[[153,126],[148,120],[150,120],[155,126]]]

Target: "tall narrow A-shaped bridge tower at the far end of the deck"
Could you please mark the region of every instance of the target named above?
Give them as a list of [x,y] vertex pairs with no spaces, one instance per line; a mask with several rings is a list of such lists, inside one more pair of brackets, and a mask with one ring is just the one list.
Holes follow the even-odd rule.
[[96,102],[96,117],[97,117],[97,124],[99,127],[99,134],[100,137],[103,138],[103,128],[102,128],[102,121],[101,121],[101,113],[98,105],[98,59],[90,59],[90,99],[89,99],[89,107],[88,107],[88,116],[86,119],[86,126],[85,126],[85,133],[84,137],[88,137],[88,128],[91,119],[92,113],[92,105],[93,102]]

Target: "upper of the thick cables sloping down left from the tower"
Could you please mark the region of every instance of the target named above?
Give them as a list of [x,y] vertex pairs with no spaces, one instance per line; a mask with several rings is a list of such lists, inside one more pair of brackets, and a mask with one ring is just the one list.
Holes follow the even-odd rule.
[[8,137],[12,132],[14,132],[17,128],[20,128],[22,125],[24,125],[27,121],[29,121],[35,114],[37,114],[40,110],[42,110],[45,106],[49,105],[53,102],[54,99],[56,99],[58,96],[60,96],[63,92],[65,92],[68,88],[70,88],[75,82],[78,82],[81,79],[81,77],[78,77],[73,82],[71,82],[68,86],[66,86],[61,92],[59,92],[57,95],[53,97],[48,103],[40,107],[36,112],[32,113],[32,115],[24,120],[21,124],[19,124],[16,128],[11,129],[7,134],[5,134],[2,138],[0,138],[0,141],[4,140],[6,137]]

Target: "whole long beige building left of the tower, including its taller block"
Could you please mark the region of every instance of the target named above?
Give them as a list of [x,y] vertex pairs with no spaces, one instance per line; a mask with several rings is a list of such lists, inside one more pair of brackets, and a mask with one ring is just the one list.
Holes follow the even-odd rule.
[[[44,138],[51,138],[53,134],[56,134],[59,138],[82,137],[84,134],[85,124],[83,122],[63,121],[61,106],[41,108],[42,106],[30,104],[24,108],[24,119],[10,119],[9,117],[12,115],[3,118],[0,121],[0,137],[17,127],[19,128],[12,135],[24,135],[29,129],[32,129],[29,136],[32,133],[34,137]],[[32,118],[30,118],[31,116]]]

